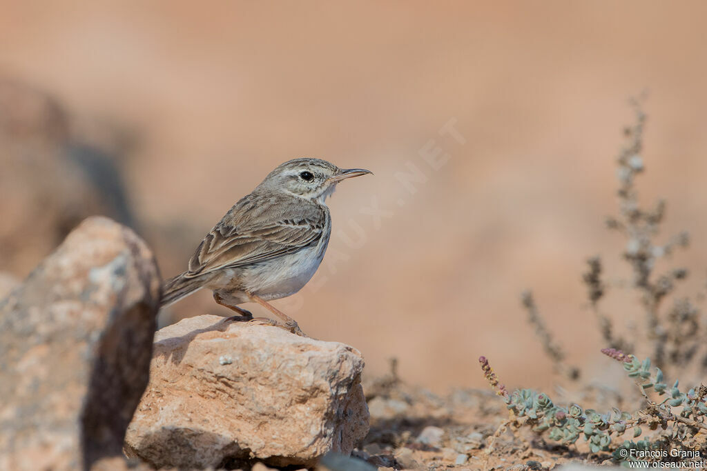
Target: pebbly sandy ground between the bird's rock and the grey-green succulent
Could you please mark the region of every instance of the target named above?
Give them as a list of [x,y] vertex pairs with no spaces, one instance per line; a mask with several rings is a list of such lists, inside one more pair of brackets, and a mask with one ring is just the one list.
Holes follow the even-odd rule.
[[[530,427],[508,427],[506,405],[490,390],[456,388],[436,395],[392,378],[388,374],[364,385],[371,429],[353,453],[379,470],[549,471],[569,463],[617,464],[610,453],[588,453],[583,439],[566,446]],[[585,388],[580,402],[601,408],[616,400],[606,390],[591,389]],[[614,440],[621,443],[630,435]]]

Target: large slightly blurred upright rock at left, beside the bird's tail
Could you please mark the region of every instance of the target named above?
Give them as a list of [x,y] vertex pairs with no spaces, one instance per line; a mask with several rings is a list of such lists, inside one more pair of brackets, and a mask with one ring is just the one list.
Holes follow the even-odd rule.
[[0,469],[75,470],[122,455],[159,296],[144,242],[93,217],[0,302]]

